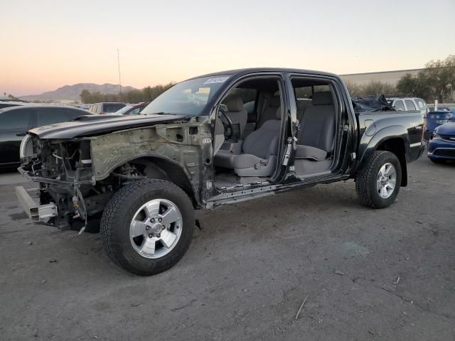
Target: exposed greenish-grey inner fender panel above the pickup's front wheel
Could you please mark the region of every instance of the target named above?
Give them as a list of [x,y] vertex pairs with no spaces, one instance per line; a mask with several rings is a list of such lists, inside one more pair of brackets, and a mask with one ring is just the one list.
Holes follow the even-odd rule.
[[183,168],[198,189],[211,151],[211,134],[206,124],[207,121],[191,120],[97,136],[91,141],[95,179],[107,178],[114,168],[135,158],[157,157]]

